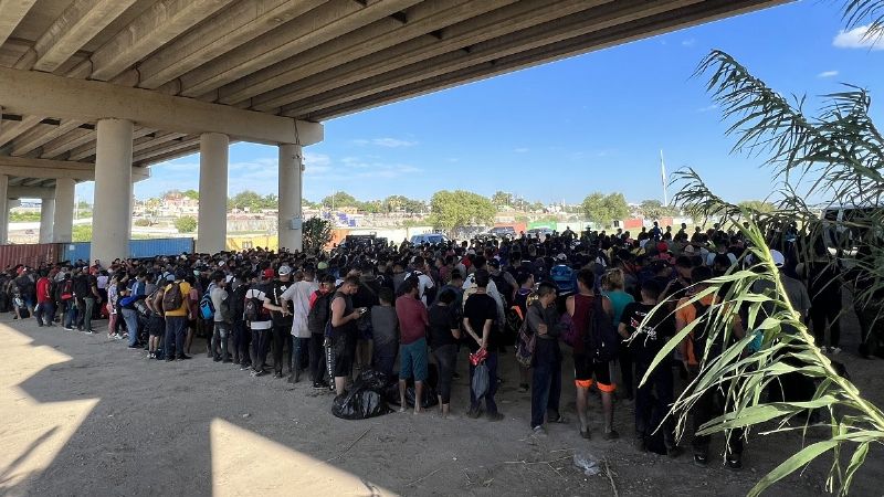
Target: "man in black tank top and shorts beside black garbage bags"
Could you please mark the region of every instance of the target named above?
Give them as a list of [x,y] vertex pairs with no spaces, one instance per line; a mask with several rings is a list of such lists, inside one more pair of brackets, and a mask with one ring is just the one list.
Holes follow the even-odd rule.
[[352,359],[356,350],[357,326],[359,317],[367,309],[354,309],[352,295],[359,289],[359,278],[348,276],[332,298],[332,348],[335,362],[332,373],[335,377],[335,392],[344,394],[347,378],[352,372]]

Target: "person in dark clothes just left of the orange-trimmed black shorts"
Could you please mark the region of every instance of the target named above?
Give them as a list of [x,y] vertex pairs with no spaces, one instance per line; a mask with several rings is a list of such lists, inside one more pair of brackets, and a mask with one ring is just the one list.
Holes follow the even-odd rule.
[[525,316],[527,330],[534,335],[535,348],[532,358],[534,374],[532,383],[532,431],[545,434],[544,422],[565,423],[559,412],[561,398],[561,349],[559,348],[559,316],[556,310],[558,288],[551,283],[541,283],[537,288],[537,300],[528,307]]

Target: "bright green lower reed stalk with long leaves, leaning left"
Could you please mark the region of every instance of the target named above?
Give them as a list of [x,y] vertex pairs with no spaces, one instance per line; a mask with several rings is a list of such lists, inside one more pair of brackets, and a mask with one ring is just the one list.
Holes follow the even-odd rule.
[[[718,302],[667,342],[651,367],[670,357],[691,331],[702,329],[706,334],[707,347],[701,351],[699,373],[670,412],[676,421],[676,436],[681,438],[686,433],[687,413],[701,396],[715,391],[724,393],[725,413],[703,425],[699,434],[720,432],[729,437],[737,436],[736,430],[769,424],[774,426],[764,434],[781,433],[794,430],[791,426],[794,417],[810,409],[827,411],[831,438],[808,445],[787,458],[759,480],[750,495],[760,494],[827,453],[833,456],[828,488],[846,494],[870,445],[884,443],[884,413],[864,400],[853,383],[840,377],[815,347],[813,336],[788,300],[768,248],[769,230],[765,228],[796,219],[810,225],[815,216],[794,198],[781,207],[798,208],[796,210],[780,209],[770,214],[750,212],[716,197],[693,170],[678,171],[676,178],[685,187],[676,194],[683,208],[736,226],[748,245],[737,265],[724,276],[706,282],[708,286],[704,290],[682,304],[692,305],[705,295],[715,295]],[[650,321],[661,311],[666,311],[663,305],[646,319]],[[739,339],[732,331],[736,320],[747,330]],[[760,347],[747,352],[747,346],[757,336],[761,337]],[[711,355],[713,342],[725,343],[720,355]],[[813,398],[804,402],[768,401],[767,392],[779,388],[780,378],[796,372],[819,381]],[[746,430],[744,436],[749,434],[750,430]],[[849,451],[852,451],[850,463],[842,466],[840,455]]]

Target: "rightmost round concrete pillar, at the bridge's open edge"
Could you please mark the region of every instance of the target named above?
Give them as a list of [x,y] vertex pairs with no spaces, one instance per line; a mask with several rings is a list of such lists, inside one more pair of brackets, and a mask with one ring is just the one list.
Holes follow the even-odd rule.
[[303,198],[304,162],[301,146],[280,146],[280,248],[304,248],[301,202]]

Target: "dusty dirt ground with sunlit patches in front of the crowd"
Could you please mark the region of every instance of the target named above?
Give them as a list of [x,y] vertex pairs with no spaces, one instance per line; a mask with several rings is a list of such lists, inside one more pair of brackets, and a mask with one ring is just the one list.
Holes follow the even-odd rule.
[[[844,330],[838,359],[884,405],[884,362],[857,358],[855,320]],[[204,353],[150,361],[104,334],[38,328],[10,315],[0,315],[0,495],[737,496],[800,445],[797,435],[753,434],[743,472],[701,469],[687,453],[670,459],[635,452],[631,402],[618,403],[621,440],[602,441],[597,398],[593,438],[585,441],[568,363],[562,404],[571,423],[538,438],[528,426],[530,395],[516,391],[509,357],[499,423],[463,415],[465,355],[452,402],[457,419],[396,413],[343,421],[330,414],[330,394],[304,381],[251,378]],[[204,350],[194,342],[193,352]],[[722,446],[714,438],[713,450]],[[575,453],[599,461],[601,474],[585,476]],[[769,495],[824,494],[827,472],[814,463]],[[873,447],[852,494],[882,495],[882,482],[884,456]]]

